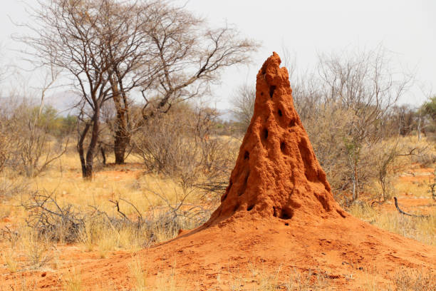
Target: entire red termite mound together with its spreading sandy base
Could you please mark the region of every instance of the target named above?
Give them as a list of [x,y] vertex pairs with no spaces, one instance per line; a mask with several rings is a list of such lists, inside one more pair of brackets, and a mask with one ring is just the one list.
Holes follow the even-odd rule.
[[[257,75],[254,116],[222,204],[202,227],[139,252],[149,282],[177,274],[185,290],[230,290],[254,268],[277,274],[313,270],[340,290],[388,284],[401,268],[436,268],[436,248],[385,232],[345,213],[294,109],[286,68],[274,53]],[[82,266],[85,286],[98,280],[131,288],[132,255]],[[251,290],[255,280],[240,280]],[[285,282],[285,281],[281,281]],[[55,288],[57,275],[38,279]],[[214,286],[219,286],[214,288]],[[375,287],[375,289],[378,289]],[[383,287],[381,287],[383,289]]]

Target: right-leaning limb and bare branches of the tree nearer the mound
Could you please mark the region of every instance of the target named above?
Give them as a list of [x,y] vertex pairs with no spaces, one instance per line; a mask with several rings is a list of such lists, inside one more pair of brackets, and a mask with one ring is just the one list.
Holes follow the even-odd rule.
[[145,118],[156,111],[167,112],[172,103],[206,93],[225,68],[248,63],[257,45],[242,39],[230,26],[209,29],[189,11],[165,3],[150,9],[146,35],[160,73],[142,86]]

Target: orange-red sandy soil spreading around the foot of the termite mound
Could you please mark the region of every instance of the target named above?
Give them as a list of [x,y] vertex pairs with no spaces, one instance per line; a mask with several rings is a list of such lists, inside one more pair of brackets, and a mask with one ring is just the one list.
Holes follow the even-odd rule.
[[[133,287],[135,280],[128,270],[132,254],[101,260],[93,253],[72,252],[70,247],[68,257],[71,263],[57,272],[1,275],[1,285],[13,285],[20,276],[26,276],[38,288],[58,290],[62,274],[76,267],[82,272],[86,290],[100,286],[100,280],[120,290]],[[157,273],[170,274],[175,268],[177,282],[186,290],[229,290],[217,277],[223,282],[237,275],[249,277],[253,265],[266,273],[279,271],[284,279],[295,270],[313,270],[326,275],[338,290],[363,290],[368,276],[374,274],[380,276],[378,284],[383,286],[402,268],[420,270],[436,265],[435,247],[352,217],[296,222],[235,215],[211,228],[182,233],[175,240],[142,250],[137,257],[145,261],[149,282]],[[45,277],[41,277],[43,273]],[[245,287],[249,290],[249,284]]]

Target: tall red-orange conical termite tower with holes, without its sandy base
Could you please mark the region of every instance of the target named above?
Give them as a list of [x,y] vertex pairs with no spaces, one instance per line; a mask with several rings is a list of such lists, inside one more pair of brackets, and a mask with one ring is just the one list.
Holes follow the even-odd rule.
[[206,226],[232,215],[282,220],[343,217],[294,108],[277,53],[257,73],[254,115],[221,205]]

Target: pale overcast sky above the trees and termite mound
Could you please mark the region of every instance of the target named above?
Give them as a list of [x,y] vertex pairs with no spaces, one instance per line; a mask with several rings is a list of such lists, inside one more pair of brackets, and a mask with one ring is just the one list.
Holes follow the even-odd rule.
[[[33,0],[27,0],[32,3]],[[398,66],[415,71],[417,84],[403,103],[425,100],[420,87],[436,91],[435,0],[176,0],[203,16],[212,26],[227,21],[262,47],[247,67],[227,71],[221,86],[214,88],[218,108],[229,106],[229,96],[241,83],[254,83],[256,73],[272,51],[286,46],[295,54],[300,69],[313,66],[318,53],[363,50],[382,44],[393,53]],[[6,60],[13,61],[15,48],[9,36],[19,32],[11,24],[26,20],[19,0],[1,0],[1,43]],[[4,62],[4,60],[1,60]],[[292,84],[291,84],[292,85]]]

